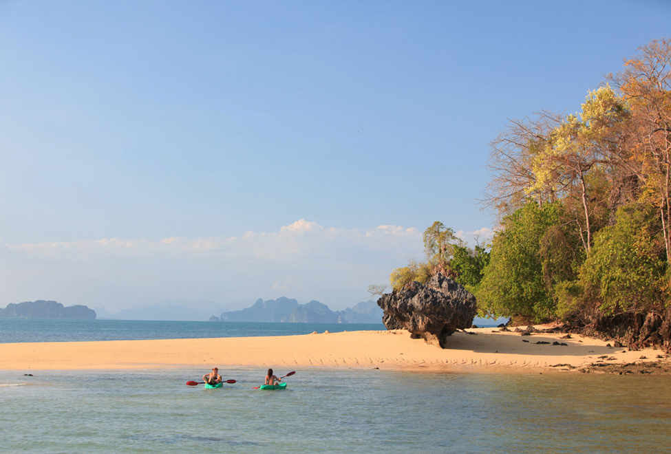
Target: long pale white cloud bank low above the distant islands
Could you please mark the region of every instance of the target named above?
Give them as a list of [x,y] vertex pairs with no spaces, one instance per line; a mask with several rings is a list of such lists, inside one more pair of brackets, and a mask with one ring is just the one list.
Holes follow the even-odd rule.
[[279,296],[341,308],[368,299],[370,283],[423,255],[416,228],[324,228],[305,219],[239,237],[4,246],[0,304],[56,299],[110,312],[170,299],[227,306]]

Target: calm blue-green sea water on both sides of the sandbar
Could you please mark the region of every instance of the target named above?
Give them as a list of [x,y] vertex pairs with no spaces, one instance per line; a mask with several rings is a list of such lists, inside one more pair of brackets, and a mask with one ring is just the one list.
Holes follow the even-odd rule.
[[[356,329],[383,327],[0,318],[0,343]],[[186,385],[205,372],[0,370],[0,453],[671,451],[670,376],[304,368],[261,391],[265,369],[221,367],[235,384]]]

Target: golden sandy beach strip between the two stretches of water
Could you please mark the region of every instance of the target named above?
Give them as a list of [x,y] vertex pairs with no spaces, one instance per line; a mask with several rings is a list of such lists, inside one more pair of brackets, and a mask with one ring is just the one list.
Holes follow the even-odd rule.
[[447,349],[411,339],[409,332],[401,329],[271,337],[6,343],[0,344],[0,369],[209,369],[217,365],[471,373],[671,374],[671,355],[660,350],[630,352],[624,347],[608,347],[606,341],[596,338],[564,336],[546,333],[520,336],[497,328],[473,328],[450,336]]

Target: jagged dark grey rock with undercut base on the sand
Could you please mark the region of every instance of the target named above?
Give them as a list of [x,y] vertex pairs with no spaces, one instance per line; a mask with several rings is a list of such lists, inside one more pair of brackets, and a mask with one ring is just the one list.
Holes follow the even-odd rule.
[[462,285],[434,274],[426,285],[416,281],[378,300],[387,329],[407,329],[414,337],[445,348],[447,336],[473,325],[476,297]]

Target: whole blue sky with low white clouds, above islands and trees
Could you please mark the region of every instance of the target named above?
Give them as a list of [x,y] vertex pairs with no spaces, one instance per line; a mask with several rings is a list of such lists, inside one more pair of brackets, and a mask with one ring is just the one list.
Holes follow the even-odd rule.
[[0,306],[368,299],[665,1],[0,0]]

